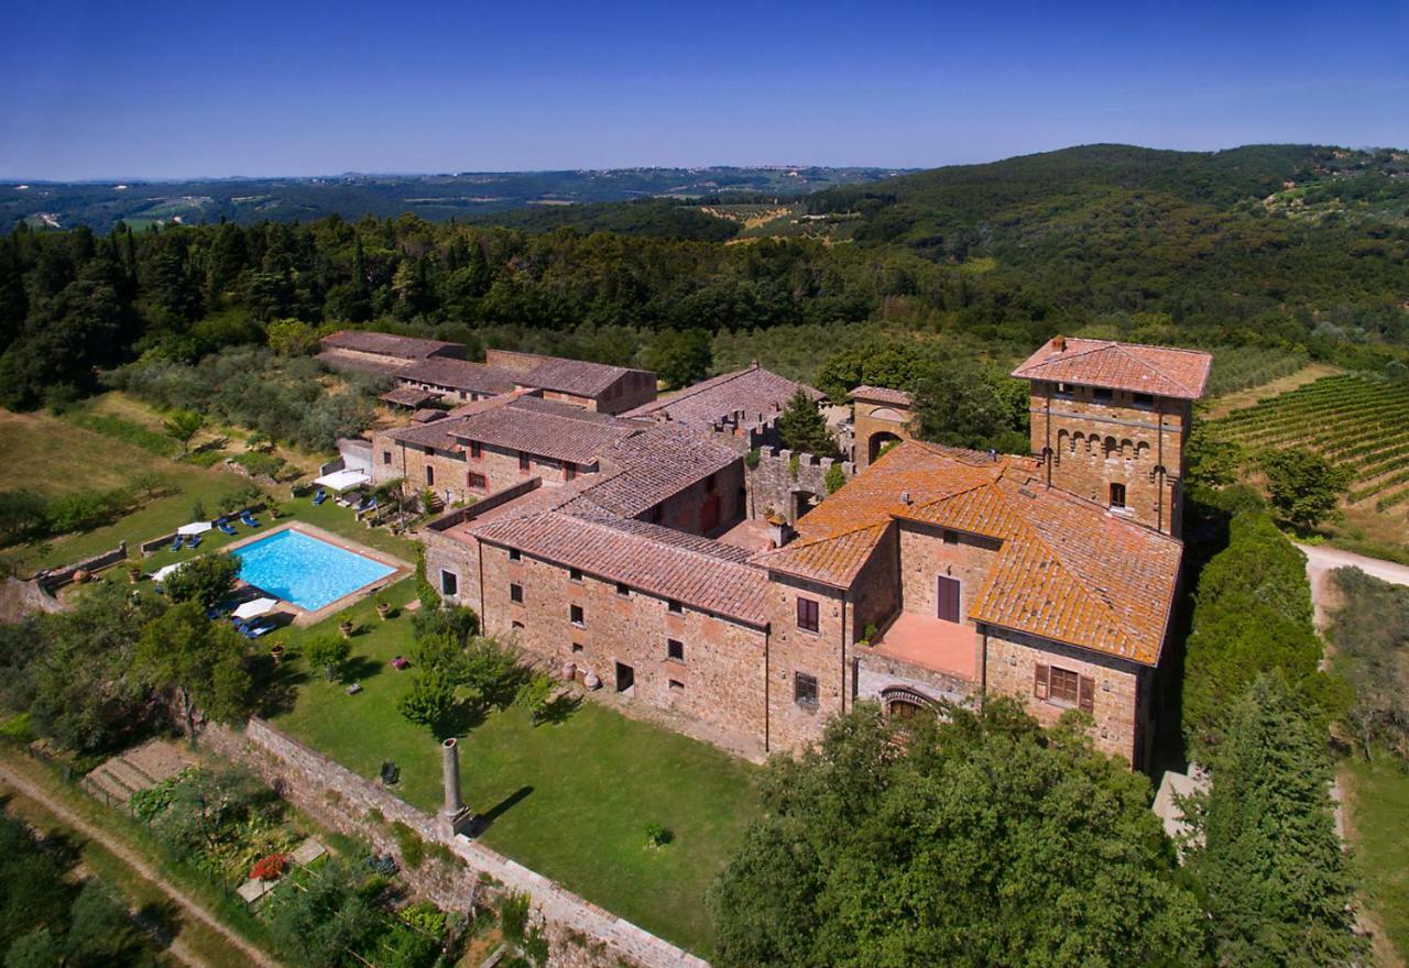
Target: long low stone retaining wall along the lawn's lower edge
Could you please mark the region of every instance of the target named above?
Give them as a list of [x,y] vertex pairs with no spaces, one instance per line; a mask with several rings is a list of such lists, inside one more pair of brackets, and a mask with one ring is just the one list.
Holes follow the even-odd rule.
[[[551,968],[709,968],[703,960],[626,922],[561,885],[464,836],[410,806],[371,779],[333,763],[261,719],[251,719],[244,733],[207,726],[203,740],[272,784],[282,796],[320,823],[371,841],[396,854],[390,824],[407,824],[431,843],[442,843],[465,861],[465,868],[426,861],[406,870],[413,889],[437,905],[466,909],[475,899],[480,874],[493,877],[507,891],[528,893],[547,926]],[[378,809],[386,823],[366,819]],[[586,943],[579,943],[582,937]]]

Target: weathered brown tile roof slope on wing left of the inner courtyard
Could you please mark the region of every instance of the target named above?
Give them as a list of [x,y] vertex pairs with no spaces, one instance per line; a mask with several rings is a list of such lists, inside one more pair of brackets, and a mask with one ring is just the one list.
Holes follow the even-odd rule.
[[602,452],[603,469],[620,473],[586,490],[583,498],[609,514],[635,518],[737,460],[728,447],[685,428],[652,425]]

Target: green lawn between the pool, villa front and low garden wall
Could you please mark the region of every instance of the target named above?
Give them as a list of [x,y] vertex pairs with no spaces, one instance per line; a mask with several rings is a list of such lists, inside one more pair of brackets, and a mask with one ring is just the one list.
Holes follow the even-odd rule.
[[[413,581],[387,592],[393,605],[413,597]],[[410,615],[400,611],[382,622],[373,604],[362,602],[320,626],[286,633],[287,640],[296,646],[310,635],[335,633],[344,616],[358,625],[352,675],[364,691],[349,696],[293,664],[289,689],[275,689],[285,706],[271,719],[364,777],[376,777],[383,760],[396,763],[397,794],[435,810],[438,743],[396,711],[411,673],[387,664],[411,651]],[[537,727],[519,709],[490,713],[462,736],[461,770],[466,802],[489,817],[485,844],[661,937],[709,954],[704,891],[758,815],[754,767],[586,702],[564,722]],[[675,834],[669,846],[647,847],[645,826],[652,822]]]

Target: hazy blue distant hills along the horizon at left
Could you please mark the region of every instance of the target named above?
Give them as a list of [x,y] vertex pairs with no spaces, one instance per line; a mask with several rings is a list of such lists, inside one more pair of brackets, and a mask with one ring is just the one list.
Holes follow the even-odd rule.
[[430,221],[476,218],[517,208],[561,208],[635,198],[796,197],[821,189],[878,182],[896,169],[868,167],[635,167],[581,172],[465,172],[459,174],[340,174],[320,179],[216,179],[192,182],[0,184],[0,231],[87,225],[104,232],[221,218],[310,221],[414,212]]

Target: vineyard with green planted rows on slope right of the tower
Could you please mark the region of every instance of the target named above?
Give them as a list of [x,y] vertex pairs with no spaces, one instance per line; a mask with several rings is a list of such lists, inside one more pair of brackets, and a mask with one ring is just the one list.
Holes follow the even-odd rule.
[[1353,474],[1350,502],[1409,502],[1409,386],[1343,373],[1209,425],[1250,450],[1303,446]]

